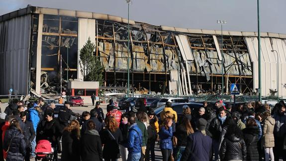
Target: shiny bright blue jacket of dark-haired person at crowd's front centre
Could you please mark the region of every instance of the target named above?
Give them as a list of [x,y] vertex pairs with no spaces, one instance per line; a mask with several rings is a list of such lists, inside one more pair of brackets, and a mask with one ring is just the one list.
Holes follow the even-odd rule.
[[132,124],[128,131],[128,142],[123,146],[128,149],[128,153],[141,153],[143,142],[142,132],[136,123]]

